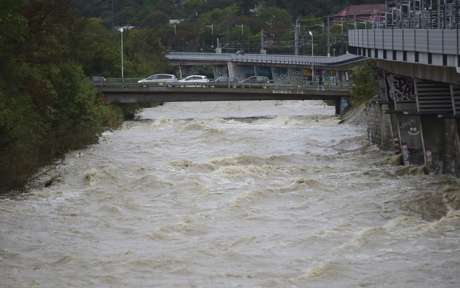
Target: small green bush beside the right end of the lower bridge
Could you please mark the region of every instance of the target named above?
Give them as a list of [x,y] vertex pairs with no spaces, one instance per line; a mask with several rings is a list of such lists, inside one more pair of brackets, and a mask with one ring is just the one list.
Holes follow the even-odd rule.
[[351,94],[353,97],[353,104],[359,106],[367,100],[374,98],[378,95],[379,88],[373,75],[375,75],[376,63],[374,59],[367,59],[364,62],[364,67],[356,66],[350,78],[353,80],[351,87]]

